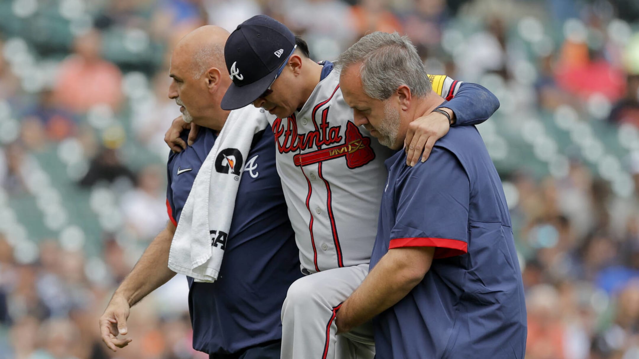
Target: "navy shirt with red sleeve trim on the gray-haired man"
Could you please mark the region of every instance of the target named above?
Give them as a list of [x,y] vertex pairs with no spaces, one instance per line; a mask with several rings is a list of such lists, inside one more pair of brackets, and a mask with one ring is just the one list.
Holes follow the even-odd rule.
[[475,126],[430,157],[386,161],[371,270],[390,248],[436,247],[426,276],[373,320],[376,358],[524,357],[523,283],[502,183]]

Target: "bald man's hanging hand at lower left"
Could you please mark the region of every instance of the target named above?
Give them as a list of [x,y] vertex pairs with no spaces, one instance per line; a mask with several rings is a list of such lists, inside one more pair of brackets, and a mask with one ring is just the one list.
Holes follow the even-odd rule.
[[102,341],[112,351],[117,348],[124,348],[131,342],[130,338],[118,339],[119,335],[127,335],[127,318],[130,307],[125,298],[121,296],[113,296],[111,302],[104,310],[104,314],[100,317],[100,333]]

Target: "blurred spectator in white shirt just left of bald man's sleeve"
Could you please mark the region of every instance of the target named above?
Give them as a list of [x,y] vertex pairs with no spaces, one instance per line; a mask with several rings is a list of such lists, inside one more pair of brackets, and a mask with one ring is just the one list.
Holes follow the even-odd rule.
[[166,227],[165,173],[155,165],[144,167],[137,174],[135,188],[123,197],[122,213],[135,238],[152,240]]

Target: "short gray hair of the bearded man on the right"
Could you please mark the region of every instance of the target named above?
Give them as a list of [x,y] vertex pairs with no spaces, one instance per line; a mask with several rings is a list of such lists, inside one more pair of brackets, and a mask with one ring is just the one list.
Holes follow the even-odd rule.
[[408,36],[376,31],[360,38],[337,59],[337,67],[362,62],[360,75],[366,95],[386,100],[399,86],[413,96],[426,96],[432,89],[426,67]]

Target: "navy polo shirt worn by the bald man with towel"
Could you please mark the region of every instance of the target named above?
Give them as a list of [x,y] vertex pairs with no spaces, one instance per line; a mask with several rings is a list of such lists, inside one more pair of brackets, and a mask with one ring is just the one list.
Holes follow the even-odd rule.
[[[215,139],[212,130],[201,128],[193,146],[169,155],[167,206],[174,224]],[[286,291],[302,277],[270,126],[256,134],[244,160],[219,277],[214,283],[187,277],[193,348],[209,354],[281,339]]]

